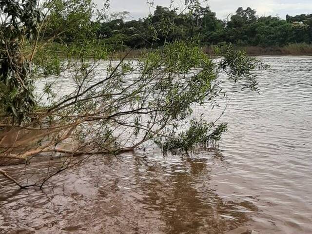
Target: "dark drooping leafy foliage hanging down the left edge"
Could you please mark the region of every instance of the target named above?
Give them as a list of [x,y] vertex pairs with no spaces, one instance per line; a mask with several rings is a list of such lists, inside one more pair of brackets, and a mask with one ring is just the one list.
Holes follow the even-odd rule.
[[37,43],[41,14],[36,0],[0,1],[0,109],[12,116],[12,123],[28,117],[35,106],[33,79],[30,76],[35,47],[25,58],[25,40]]

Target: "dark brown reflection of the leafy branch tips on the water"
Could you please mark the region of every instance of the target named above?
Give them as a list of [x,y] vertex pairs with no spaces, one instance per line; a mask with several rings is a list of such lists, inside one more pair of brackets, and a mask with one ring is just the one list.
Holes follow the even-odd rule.
[[[256,211],[252,203],[226,202],[210,188],[206,158],[175,157],[148,166],[140,185],[145,209],[159,211],[165,233],[221,233],[247,221],[244,212]],[[139,168],[137,170],[139,172]],[[157,176],[156,176],[157,174]],[[155,178],[156,176],[156,178]]]

